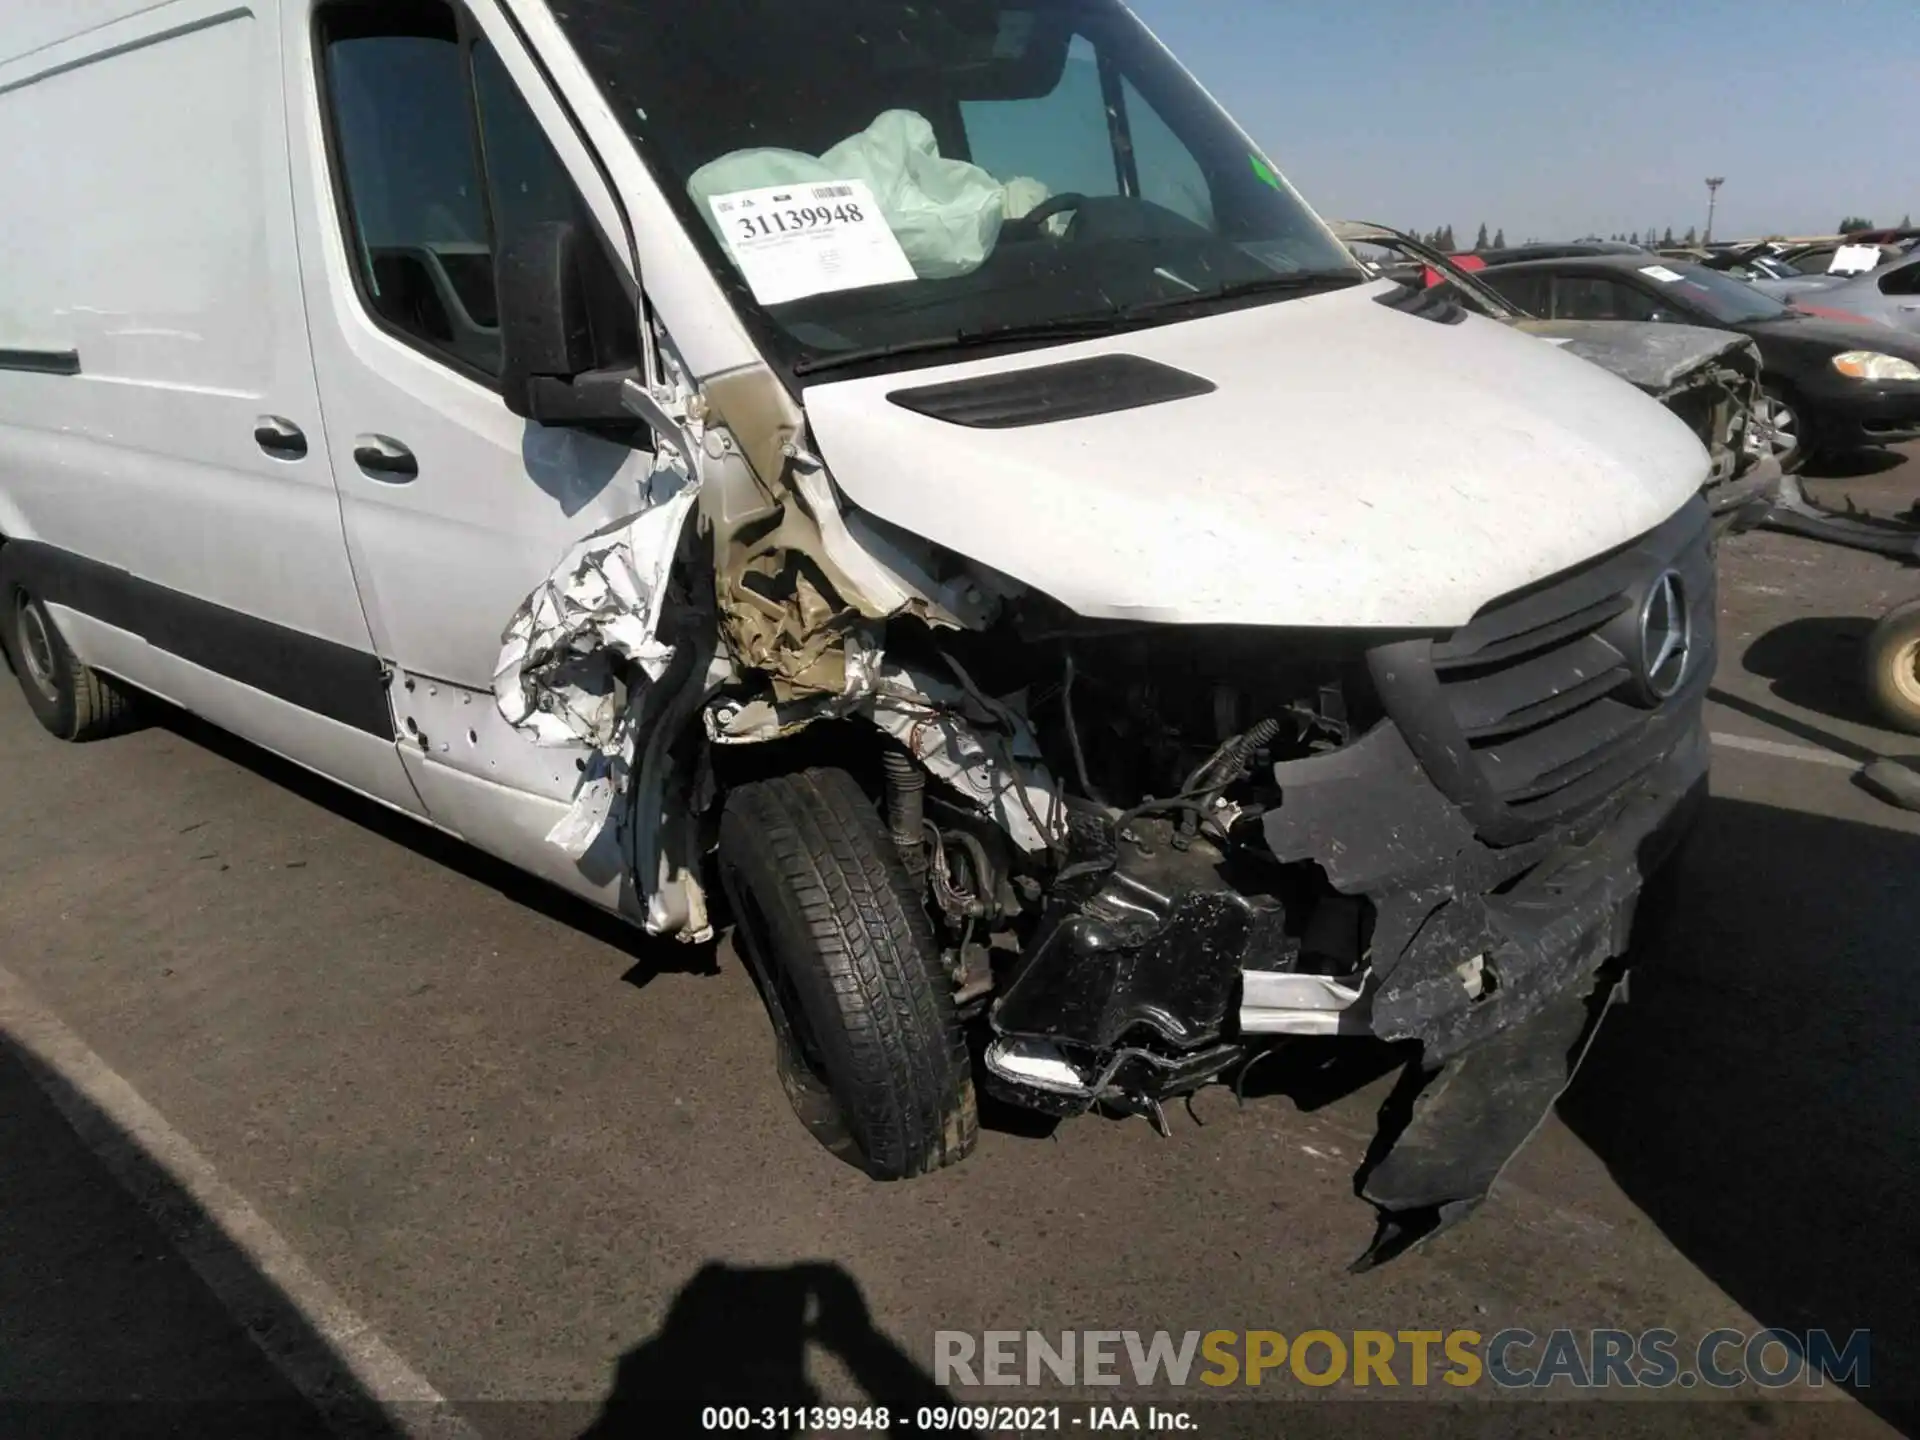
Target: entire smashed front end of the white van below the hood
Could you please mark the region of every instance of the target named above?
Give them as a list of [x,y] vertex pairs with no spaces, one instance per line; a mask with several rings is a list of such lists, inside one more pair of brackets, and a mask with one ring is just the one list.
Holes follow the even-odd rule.
[[[1000,1098],[1164,1127],[1290,1037],[1402,1043],[1361,1263],[1488,1194],[1703,785],[1705,501],[1446,636],[1087,620],[847,505],[770,372],[645,409],[678,440],[515,616],[497,699],[595,747],[553,841],[614,828],[651,933],[712,933],[730,787],[829,764]],[[780,1029],[845,1085],[829,1041]],[[924,1150],[950,1160],[943,1123]]]

